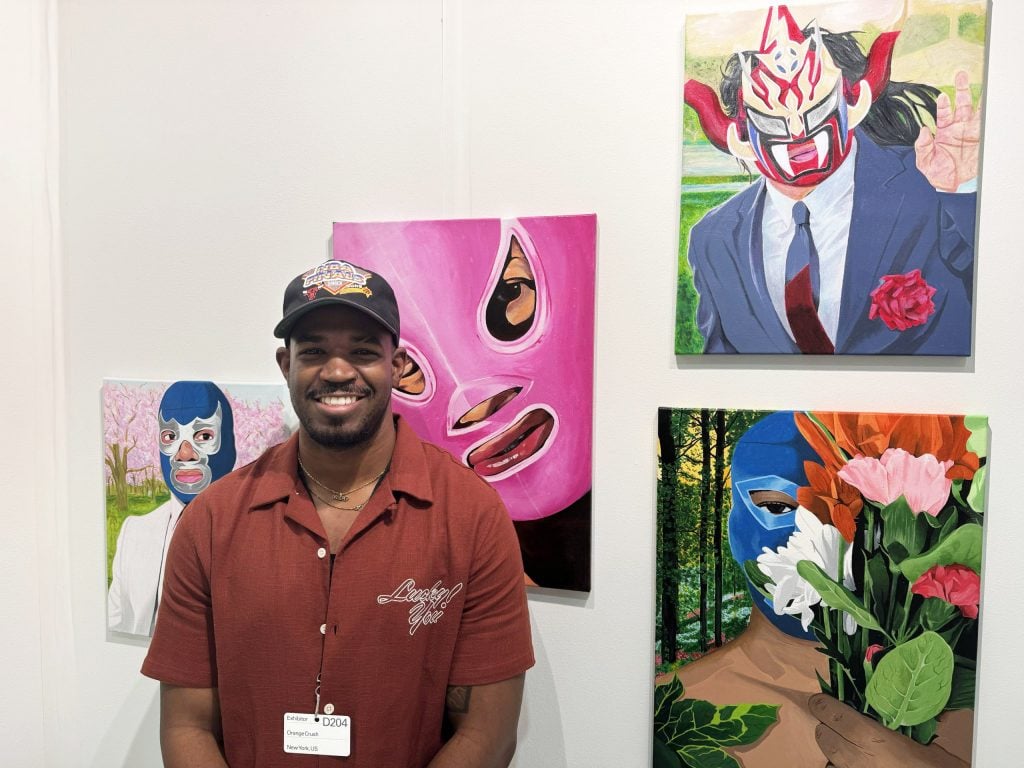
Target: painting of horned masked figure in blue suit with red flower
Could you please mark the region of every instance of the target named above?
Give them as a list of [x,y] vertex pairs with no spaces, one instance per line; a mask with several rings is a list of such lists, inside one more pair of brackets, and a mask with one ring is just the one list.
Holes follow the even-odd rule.
[[687,17],[677,354],[971,354],[986,13]]

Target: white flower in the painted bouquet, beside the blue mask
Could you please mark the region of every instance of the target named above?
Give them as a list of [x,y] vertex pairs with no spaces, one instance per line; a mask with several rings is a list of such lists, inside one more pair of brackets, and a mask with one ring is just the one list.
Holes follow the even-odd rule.
[[[800,573],[797,563],[810,560],[833,579],[840,574],[840,557],[843,558],[843,584],[853,589],[853,548],[848,546],[835,525],[821,522],[803,507],[797,507],[797,529],[790,540],[772,551],[768,547],[758,555],[758,568],[771,580],[765,589],[772,597],[777,615],[799,615],[804,631],[814,618],[814,606],[821,602],[821,595]],[[843,613],[843,628],[852,635],[857,623],[849,613]]]

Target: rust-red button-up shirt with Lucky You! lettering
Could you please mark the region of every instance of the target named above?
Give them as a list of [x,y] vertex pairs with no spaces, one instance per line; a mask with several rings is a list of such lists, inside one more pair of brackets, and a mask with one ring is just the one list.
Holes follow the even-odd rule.
[[[398,419],[390,471],[332,566],[297,451],[293,436],[188,505],[142,674],[217,688],[231,768],[425,766],[447,686],[534,664],[512,522]],[[351,718],[348,758],[284,752],[284,715],[313,712],[317,673],[319,712]]]

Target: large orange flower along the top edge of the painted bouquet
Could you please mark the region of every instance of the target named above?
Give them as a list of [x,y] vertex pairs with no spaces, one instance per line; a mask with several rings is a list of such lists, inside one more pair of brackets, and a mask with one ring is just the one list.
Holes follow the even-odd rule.
[[807,414],[796,415],[797,428],[833,472],[856,456],[878,459],[891,447],[951,461],[946,472],[950,480],[970,479],[978,471],[978,456],[967,450],[971,432],[963,416],[815,413],[813,417],[829,434]]

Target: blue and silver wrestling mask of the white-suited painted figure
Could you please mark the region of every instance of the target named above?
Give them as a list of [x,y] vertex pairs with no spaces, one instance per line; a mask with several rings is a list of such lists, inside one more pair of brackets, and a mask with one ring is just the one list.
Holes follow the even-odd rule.
[[231,406],[213,382],[174,382],[164,392],[157,419],[160,468],[182,504],[234,467]]

